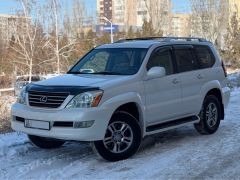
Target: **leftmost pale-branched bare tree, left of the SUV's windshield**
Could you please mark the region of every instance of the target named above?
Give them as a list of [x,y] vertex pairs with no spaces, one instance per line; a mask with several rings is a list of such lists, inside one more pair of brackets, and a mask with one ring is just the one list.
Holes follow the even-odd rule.
[[[26,68],[29,74],[29,82],[33,73],[34,56],[39,47],[36,43],[38,32],[37,20],[39,17],[36,10],[36,4],[33,0],[20,0],[22,10],[17,16],[12,17],[10,24],[13,31],[12,45],[10,48],[14,51],[12,61],[18,67]],[[34,19],[31,19],[32,10],[35,13]],[[25,70],[23,70],[25,72]]]

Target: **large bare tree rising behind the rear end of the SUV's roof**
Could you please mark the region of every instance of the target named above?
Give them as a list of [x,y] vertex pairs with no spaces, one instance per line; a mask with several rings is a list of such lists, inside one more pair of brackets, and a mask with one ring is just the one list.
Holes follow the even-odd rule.
[[[226,0],[191,0],[191,34],[201,36],[216,45],[222,44],[221,37],[228,26]],[[220,41],[220,42],[219,42]]]

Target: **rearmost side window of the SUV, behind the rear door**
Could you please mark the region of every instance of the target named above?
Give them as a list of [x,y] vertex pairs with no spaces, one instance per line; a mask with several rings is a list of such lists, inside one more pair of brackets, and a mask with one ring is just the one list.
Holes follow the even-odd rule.
[[210,68],[214,65],[215,58],[207,46],[195,46],[194,48],[201,68]]

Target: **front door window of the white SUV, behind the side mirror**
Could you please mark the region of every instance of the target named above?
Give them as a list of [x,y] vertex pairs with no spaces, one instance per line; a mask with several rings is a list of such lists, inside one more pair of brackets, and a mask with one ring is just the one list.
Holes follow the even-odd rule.
[[147,70],[151,69],[152,67],[164,67],[166,69],[166,74],[173,74],[173,63],[172,63],[172,56],[171,50],[169,48],[166,49],[159,49],[153,52],[152,56],[150,57]]

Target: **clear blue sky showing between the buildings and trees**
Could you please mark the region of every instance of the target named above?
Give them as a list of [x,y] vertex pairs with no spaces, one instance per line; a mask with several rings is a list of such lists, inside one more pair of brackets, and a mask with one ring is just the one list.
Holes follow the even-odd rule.
[[[45,1],[45,0],[38,0]],[[83,0],[90,13],[96,12],[96,0]],[[190,0],[172,0],[174,12],[190,12]],[[14,14],[19,6],[15,0],[0,0],[0,14]]]

